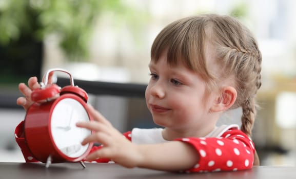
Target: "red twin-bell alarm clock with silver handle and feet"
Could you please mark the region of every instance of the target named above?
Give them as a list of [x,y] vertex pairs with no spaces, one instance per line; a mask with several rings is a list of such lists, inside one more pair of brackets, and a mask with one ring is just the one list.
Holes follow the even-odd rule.
[[[49,74],[55,71],[67,73],[70,85],[63,88],[48,84]],[[86,109],[87,93],[74,86],[72,75],[63,69],[49,70],[41,88],[34,89],[24,120],[26,144],[38,161],[46,163],[80,162],[90,152],[92,143],[81,145],[91,130],[76,127],[77,122],[91,121]]]

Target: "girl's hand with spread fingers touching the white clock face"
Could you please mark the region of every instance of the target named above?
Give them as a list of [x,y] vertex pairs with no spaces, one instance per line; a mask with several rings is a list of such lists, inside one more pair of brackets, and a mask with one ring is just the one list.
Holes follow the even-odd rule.
[[115,129],[97,110],[88,105],[87,109],[94,121],[80,122],[76,125],[93,131],[83,140],[82,145],[90,142],[101,143],[103,147],[90,153],[86,160],[92,161],[98,158],[108,158],[125,167],[136,167],[142,157],[136,144],[127,140],[121,132]]

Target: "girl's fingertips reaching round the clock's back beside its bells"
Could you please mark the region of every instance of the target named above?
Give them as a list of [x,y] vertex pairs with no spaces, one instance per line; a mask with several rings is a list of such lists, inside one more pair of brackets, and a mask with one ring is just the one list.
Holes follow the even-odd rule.
[[[48,83],[52,83],[53,73],[49,74]],[[31,77],[28,80],[28,86],[25,83],[18,84],[18,90],[24,95],[24,97],[19,97],[16,100],[16,104],[21,105],[27,111],[28,108],[34,103],[31,100],[31,93],[34,89],[40,88],[37,77]]]

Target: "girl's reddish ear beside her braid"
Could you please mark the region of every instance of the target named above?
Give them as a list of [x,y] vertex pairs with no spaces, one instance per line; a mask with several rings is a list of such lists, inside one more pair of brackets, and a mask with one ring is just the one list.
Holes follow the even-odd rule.
[[210,111],[220,112],[229,109],[234,104],[236,96],[238,96],[238,93],[234,87],[223,87],[220,95],[214,100]]

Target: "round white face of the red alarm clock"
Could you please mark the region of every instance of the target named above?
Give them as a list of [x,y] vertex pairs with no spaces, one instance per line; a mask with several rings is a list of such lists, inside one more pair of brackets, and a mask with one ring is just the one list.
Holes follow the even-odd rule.
[[59,101],[51,116],[51,135],[56,147],[65,155],[77,158],[85,153],[87,145],[81,142],[91,134],[91,130],[76,127],[77,122],[87,122],[89,116],[84,106],[72,99]]

